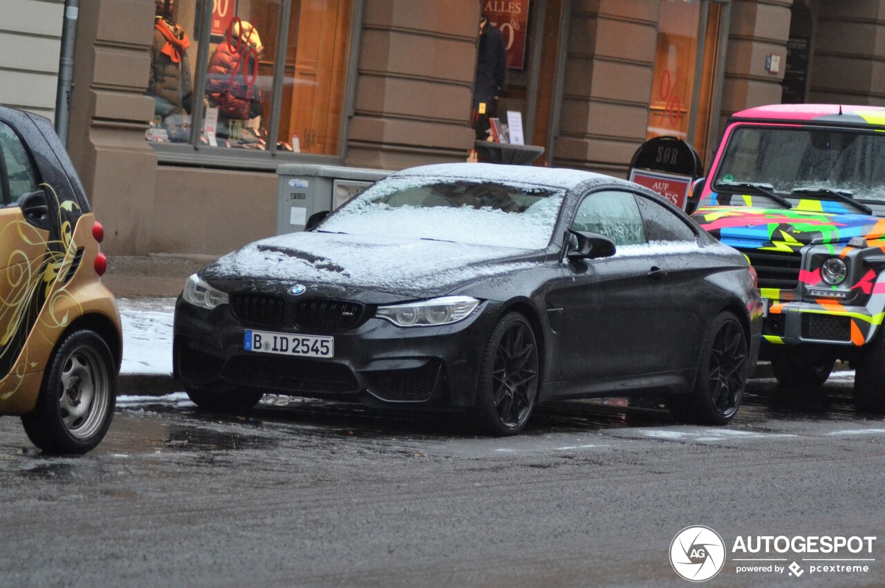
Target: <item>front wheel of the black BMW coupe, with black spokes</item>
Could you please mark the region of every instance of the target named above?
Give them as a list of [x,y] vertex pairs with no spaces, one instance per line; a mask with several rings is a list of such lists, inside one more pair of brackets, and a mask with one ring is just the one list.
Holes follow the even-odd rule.
[[538,395],[538,346],[526,317],[511,312],[489,336],[480,364],[476,419],[481,431],[514,435],[525,428]]

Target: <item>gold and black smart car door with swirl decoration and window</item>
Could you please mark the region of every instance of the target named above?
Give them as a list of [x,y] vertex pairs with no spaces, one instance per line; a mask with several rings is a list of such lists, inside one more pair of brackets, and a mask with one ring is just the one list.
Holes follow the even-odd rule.
[[0,121],[0,375],[9,373],[45,300],[50,210],[34,159]]

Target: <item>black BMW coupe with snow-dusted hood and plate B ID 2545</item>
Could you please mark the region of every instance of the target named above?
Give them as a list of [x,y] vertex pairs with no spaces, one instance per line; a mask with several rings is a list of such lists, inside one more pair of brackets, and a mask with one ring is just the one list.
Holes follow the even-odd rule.
[[727,424],[761,314],[746,258],[643,187],[428,165],[191,276],[173,369],[210,410],[289,394],[458,412],[506,435],[538,402],[654,394]]

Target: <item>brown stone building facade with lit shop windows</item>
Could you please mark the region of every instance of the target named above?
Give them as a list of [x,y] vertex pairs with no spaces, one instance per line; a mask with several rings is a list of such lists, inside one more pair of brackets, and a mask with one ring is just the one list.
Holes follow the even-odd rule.
[[278,164],[464,161],[481,11],[539,164],[623,177],[660,134],[709,161],[751,106],[885,103],[880,0],[89,0],[67,144],[105,250],[271,235]]

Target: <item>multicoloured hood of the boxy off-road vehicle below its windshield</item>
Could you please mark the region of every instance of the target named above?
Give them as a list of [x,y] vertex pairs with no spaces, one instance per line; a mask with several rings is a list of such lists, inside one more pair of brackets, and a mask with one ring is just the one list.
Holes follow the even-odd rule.
[[812,210],[704,206],[694,215],[708,233],[735,248],[796,251],[808,244],[846,244],[852,237],[880,240],[885,219]]

